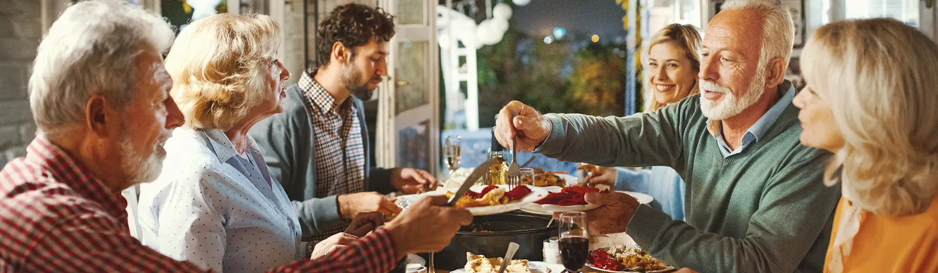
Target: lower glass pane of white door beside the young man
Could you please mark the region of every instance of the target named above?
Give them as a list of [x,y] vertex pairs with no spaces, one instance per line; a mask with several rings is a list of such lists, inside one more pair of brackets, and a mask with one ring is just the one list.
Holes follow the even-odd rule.
[[429,169],[430,122],[420,122],[398,131],[399,167]]

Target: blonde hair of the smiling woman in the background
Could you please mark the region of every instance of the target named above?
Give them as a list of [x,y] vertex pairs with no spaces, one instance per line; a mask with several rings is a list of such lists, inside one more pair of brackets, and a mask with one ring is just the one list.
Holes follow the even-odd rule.
[[[645,51],[644,55],[648,56],[651,54],[651,48],[658,44],[671,43],[681,50],[684,50],[685,54],[690,60],[690,66],[693,67],[695,72],[701,71],[701,58],[700,58],[700,47],[701,47],[701,35],[697,31],[697,28],[689,24],[680,24],[672,23],[651,37],[651,43],[648,44],[648,50]],[[647,64],[647,62],[645,62]],[[696,76],[695,76],[696,77]],[[649,103],[646,104],[648,108],[645,109],[645,112],[654,112],[658,108],[663,108],[665,105],[659,103],[655,99],[655,90],[652,88],[651,82],[648,80],[650,77],[645,77],[644,79],[644,93],[643,96],[645,99],[649,100]],[[698,88],[697,81],[694,81],[694,86],[691,88],[688,96],[700,93]]]

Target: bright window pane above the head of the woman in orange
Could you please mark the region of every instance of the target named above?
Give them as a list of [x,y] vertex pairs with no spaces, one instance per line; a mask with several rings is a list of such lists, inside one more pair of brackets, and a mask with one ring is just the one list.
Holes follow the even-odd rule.
[[863,0],[846,5],[847,19],[888,17],[918,27],[919,0]]

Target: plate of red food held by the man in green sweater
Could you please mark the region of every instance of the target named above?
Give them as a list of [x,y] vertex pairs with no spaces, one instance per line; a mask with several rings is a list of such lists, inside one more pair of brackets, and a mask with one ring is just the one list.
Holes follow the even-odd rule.
[[524,204],[522,210],[538,213],[538,214],[548,214],[554,212],[567,212],[567,211],[586,211],[593,208],[599,208],[597,204],[587,204],[583,199],[584,194],[588,193],[609,193],[609,190],[599,191],[597,188],[582,187],[582,186],[568,186],[564,188],[560,187],[548,187],[545,188],[550,194],[544,196],[540,200],[537,200],[533,203]]

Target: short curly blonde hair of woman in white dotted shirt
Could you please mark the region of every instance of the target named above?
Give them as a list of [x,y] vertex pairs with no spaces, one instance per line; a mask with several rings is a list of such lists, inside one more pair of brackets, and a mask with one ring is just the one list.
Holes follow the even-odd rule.
[[166,57],[173,97],[192,128],[228,130],[259,105],[280,47],[280,25],[262,14],[192,22]]

